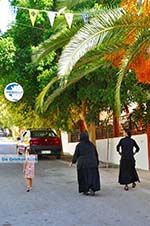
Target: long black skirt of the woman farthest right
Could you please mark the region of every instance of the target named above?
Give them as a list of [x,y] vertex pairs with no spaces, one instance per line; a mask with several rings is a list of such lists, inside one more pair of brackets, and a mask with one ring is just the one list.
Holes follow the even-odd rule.
[[135,160],[121,159],[119,183],[125,185],[133,182],[137,182],[137,181],[140,182],[137,171],[135,169]]

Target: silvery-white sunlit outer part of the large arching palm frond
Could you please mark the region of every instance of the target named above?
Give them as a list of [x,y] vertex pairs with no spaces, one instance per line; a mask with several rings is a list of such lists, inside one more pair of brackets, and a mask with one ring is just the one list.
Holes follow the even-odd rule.
[[88,51],[100,45],[110,31],[114,31],[115,22],[124,15],[122,9],[109,10],[85,25],[66,46],[59,61],[58,75],[70,73],[76,62]]

